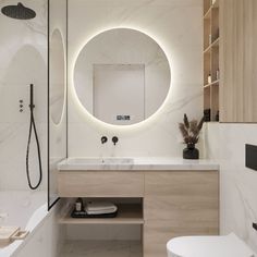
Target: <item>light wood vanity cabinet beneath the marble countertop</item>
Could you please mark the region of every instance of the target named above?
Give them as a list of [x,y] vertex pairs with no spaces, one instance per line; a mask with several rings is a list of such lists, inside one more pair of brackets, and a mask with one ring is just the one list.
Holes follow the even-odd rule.
[[140,198],[135,213],[124,209],[99,221],[66,213],[60,222],[139,224],[144,257],[167,257],[166,244],[175,236],[219,233],[218,171],[61,171],[58,180],[60,197]]

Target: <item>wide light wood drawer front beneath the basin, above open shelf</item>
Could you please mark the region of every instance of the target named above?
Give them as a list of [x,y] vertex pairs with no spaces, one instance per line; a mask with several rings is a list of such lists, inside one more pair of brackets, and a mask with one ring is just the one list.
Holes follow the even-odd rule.
[[143,197],[144,173],[112,171],[59,172],[60,197]]

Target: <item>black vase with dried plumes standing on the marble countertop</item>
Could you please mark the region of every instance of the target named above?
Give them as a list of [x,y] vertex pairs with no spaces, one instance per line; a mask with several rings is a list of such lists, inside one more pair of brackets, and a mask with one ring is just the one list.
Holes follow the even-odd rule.
[[183,150],[184,159],[199,159],[199,150],[195,148],[195,145],[199,140],[199,133],[204,122],[205,117],[198,123],[197,120],[188,121],[187,115],[184,114],[184,122],[179,124],[184,144],[186,144],[186,148]]

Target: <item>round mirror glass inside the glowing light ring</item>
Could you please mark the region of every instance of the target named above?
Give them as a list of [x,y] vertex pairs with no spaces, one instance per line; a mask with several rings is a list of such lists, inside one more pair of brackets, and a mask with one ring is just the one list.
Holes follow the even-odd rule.
[[106,123],[131,125],[154,114],[170,89],[170,65],[160,46],[135,29],[114,28],[89,40],[74,69],[76,96]]

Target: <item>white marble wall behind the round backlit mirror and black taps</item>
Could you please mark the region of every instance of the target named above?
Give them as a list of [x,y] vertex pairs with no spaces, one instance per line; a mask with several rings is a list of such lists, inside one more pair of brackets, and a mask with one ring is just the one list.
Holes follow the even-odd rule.
[[[69,156],[181,157],[178,122],[186,112],[203,113],[201,0],[70,0],[69,1]],[[95,121],[77,103],[73,66],[83,45],[113,27],[139,29],[159,42],[171,63],[171,90],[159,114],[132,127]],[[101,135],[109,142],[101,145]],[[114,147],[111,137],[119,136]]]

